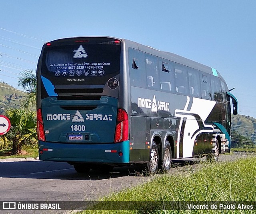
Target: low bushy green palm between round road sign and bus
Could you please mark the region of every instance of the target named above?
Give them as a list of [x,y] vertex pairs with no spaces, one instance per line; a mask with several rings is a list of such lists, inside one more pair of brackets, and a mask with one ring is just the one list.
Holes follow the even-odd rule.
[[20,154],[23,145],[37,142],[35,111],[9,109],[5,115],[11,122],[10,131],[4,135],[12,142],[11,155]]

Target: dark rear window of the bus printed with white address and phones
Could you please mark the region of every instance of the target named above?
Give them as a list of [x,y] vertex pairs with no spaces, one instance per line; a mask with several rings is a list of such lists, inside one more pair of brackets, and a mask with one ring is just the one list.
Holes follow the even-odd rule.
[[104,85],[120,73],[120,50],[111,44],[46,47],[41,75],[53,85]]

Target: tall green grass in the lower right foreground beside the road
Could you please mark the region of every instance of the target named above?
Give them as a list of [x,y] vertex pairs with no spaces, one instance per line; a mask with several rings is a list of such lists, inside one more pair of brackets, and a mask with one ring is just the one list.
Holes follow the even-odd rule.
[[[164,174],[154,180],[100,199],[88,213],[255,213],[255,210],[168,210],[170,202],[256,201],[256,158],[220,164],[205,164],[186,175]],[[129,210],[121,210],[124,201],[132,201]],[[145,202],[146,201],[146,202]],[[110,202],[116,210],[110,209]],[[118,203],[120,202],[120,203]],[[112,204],[113,205],[113,204]],[[174,204],[175,205],[175,204]],[[184,205],[184,204],[183,204]],[[164,209],[165,208],[165,209]],[[127,206],[126,206],[126,209]]]

